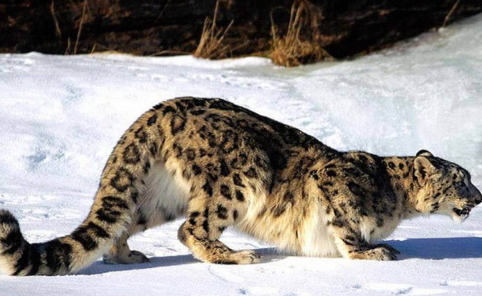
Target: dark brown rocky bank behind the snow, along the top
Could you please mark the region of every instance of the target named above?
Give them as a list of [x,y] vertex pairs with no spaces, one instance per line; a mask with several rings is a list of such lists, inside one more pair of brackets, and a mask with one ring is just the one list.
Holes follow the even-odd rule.
[[[322,55],[302,62],[363,54],[482,11],[480,0],[294,4],[303,10],[294,28],[296,38],[323,49]],[[214,40],[223,50],[205,57],[270,56],[273,34],[283,37],[288,30],[293,0],[219,0],[218,5],[215,26],[209,23],[207,28],[218,33]],[[192,54],[215,6],[216,0],[3,0],[0,52]]]

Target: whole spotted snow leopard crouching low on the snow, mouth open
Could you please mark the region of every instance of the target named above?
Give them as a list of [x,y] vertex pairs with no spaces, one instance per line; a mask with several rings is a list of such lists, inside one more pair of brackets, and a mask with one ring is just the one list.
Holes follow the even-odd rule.
[[179,240],[209,263],[259,262],[220,241],[230,226],[300,256],[394,260],[377,243],[403,219],[462,222],[481,192],[461,166],[420,150],[382,157],[338,151],[276,120],[217,98],[181,97],[142,114],[102,171],[90,212],[69,235],[27,242],[0,211],[0,269],[9,275],[76,273],[142,263],[127,239],[185,217]]

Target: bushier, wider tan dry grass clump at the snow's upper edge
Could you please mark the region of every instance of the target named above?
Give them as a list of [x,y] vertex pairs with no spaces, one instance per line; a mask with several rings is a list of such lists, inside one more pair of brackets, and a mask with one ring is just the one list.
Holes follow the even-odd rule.
[[277,27],[271,15],[272,52],[270,58],[273,63],[285,67],[299,66],[332,57],[323,49],[320,42],[315,41],[312,34],[308,40],[302,40],[301,33],[305,24],[306,6],[303,1],[295,1],[291,6],[286,35],[278,37]]

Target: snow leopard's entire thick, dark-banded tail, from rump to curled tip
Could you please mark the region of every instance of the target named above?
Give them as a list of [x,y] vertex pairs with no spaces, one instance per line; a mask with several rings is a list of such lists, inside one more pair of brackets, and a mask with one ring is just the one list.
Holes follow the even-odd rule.
[[144,190],[143,177],[161,157],[162,125],[169,122],[170,114],[159,106],[141,115],[121,137],[104,167],[87,218],[71,234],[30,244],[15,217],[0,210],[0,272],[19,276],[70,274],[108,252],[131,224]]

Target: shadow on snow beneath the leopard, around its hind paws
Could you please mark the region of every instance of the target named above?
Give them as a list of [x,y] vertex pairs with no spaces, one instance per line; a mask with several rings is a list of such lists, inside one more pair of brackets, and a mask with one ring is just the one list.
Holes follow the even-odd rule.
[[[263,255],[260,263],[265,263],[265,262],[269,262],[272,260],[277,260],[285,257],[281,255],[279,251],[277,251],[275,248],[259,248],[259,249],[255,249],[254,251]],[[105,264],[100,260],[100,261],[94,262],[92,265],[78,272],[77,274],[92,275],[92,274],[101,274],[101,273],[113,272],[113,271],[146,269],[146,268],[165,267],[165,266],[193,264],[193,263],[201,263],[201,261],[199,261],[198,259],[195,259],[192,255],[151,257],[149,258],[149,262],[139,263],[139,264]]]

